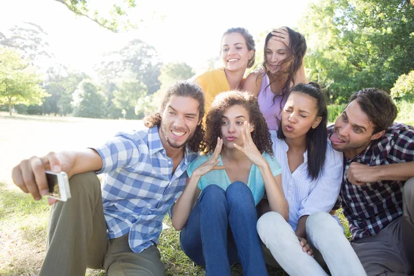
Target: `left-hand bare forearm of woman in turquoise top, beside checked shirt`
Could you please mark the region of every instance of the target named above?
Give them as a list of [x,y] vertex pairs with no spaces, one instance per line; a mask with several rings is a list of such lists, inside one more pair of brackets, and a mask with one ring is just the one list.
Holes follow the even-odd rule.
[[186,184],[184,192],[175,202],[174,209],[172,210],[172,227],[177,230],[184,228],[195,201],[197,201],[200,193],[200,190],[197,187],[199,179],[200,177],[193,175],[193,177],[190,178],[190,181]]

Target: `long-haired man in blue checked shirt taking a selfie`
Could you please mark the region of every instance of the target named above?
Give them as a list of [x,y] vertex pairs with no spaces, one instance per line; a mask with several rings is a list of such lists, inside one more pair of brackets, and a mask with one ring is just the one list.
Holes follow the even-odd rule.
[[[195,152],[203,149],[203,117],[204,92],[179,82],[166,93],[161,112],[144,119],[148,129],[14,167],[14,183],[37,200],[48,194],[45,170],[74,175],[72,198],[52,207],[39,275],[85,275],[87,266],[108,275],[165,275],[157,248],[162,219],[184,190]],[[108,173],[102,188],[95,172]]]

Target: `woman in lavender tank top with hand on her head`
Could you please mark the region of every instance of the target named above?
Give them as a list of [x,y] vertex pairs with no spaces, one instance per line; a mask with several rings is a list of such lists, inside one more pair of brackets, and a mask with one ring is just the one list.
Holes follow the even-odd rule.
[[277,120],[286,103],[290,88],[307,83],[303,59],[306,40],[302,34],[288,27],[269,32],[264,42],[262,67],[251,72],[243,89],[257,97],[260,110],[268,124],[272,141],[277,138]]

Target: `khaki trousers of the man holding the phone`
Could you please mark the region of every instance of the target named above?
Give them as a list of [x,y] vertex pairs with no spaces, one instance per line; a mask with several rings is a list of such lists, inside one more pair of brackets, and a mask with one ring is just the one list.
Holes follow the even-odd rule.
[[46,258],[40,276],[85,275],[86,267],[103,268],[109,276],[164,276],[157,246],[132,252],[128,235],[108,240],[101,184],[94,172],[70,178],[72,198],[52,206]]

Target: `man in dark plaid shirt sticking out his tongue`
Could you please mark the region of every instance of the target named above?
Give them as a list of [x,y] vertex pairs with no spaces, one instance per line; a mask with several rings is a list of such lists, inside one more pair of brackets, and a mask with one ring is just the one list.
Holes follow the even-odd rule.
[[331,128],[344,152],[342,208],[367,275],[414,273],[414,128],[396,117],[386,92],[366,88]]

